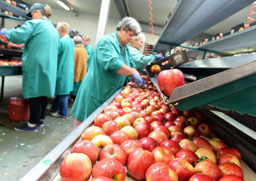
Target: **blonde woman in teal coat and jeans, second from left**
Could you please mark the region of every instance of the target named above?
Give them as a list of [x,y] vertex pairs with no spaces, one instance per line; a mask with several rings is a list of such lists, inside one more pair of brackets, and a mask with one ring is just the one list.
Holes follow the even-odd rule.
[[68,116],[68,95],[73,91],[74,80],[74,41],[69,37],[70,25],[67,22],[57,24],[59,33],[58,68],[56,81],[56,97],[52,107],[47,110],[55,112],[53,117]]

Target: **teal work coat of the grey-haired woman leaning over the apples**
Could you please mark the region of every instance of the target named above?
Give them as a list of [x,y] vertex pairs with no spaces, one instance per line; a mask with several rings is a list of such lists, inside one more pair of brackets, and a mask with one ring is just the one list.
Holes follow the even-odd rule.
[[124,51],[117,32],[104,35],[97,43],[91,68],[82,80],[71,111],[79,121],[84,121],[123,86],[126,76],[116,73],[123,64],[136,68],[127,45]]

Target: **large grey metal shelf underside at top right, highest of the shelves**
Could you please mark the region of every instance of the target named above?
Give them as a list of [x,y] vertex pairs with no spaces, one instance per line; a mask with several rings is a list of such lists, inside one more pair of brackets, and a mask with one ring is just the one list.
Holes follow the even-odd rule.
[[[181,44],[208,30],[232,14],[253,3],[232,0],[180,0],[173,10],[158,41]],[[154,51],[169,49],[170,45],[157,43]]]

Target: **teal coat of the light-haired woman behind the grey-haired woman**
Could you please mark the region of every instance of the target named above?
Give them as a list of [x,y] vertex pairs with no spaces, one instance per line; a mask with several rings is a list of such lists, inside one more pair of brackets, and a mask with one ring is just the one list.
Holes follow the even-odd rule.
[[129,46],[129,49],[132,53],[132,56],[134,58],[133,62],[136,65],[138,71],[142,71],[144,67],[147,66],[147,64],[157,60],[157,58],[154,55],[145,56],[141,54],[140,51],[132,45]]

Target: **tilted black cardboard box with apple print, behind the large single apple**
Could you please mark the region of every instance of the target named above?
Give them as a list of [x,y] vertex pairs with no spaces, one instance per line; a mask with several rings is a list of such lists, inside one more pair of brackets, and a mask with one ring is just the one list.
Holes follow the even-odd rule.
[[183,50],[145,66],[145,70],[148,76],[153,77],[162,70],[168,70],[170,67],[177,67],[186,62],[188,62],[188,58],[186,51]]

